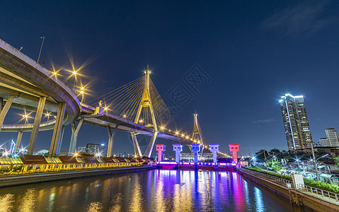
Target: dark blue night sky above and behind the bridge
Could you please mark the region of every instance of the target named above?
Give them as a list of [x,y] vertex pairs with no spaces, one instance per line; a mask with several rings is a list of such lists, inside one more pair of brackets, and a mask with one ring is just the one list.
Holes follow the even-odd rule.
[[[88,62],[81,72],[94,82],[93,96],[139,78],[149,64],[178,126],[192,131],[197,110],[207,143],[224,152],[239,143],[248,154],[287,150],[278,104],[285,93],[304,95],[314,141],[339,129],[338,10],[338,1],[6,1],[0,38],[38,59],[45,35],[40,62],[47,69],[69,67],[70,57],[78,67]],[[193,90],[184,76],[196,64],[210,81]],[[193,96],[180,110],[165,98],[176,83]],[[18,119],[10,110],[5,124]],[[40,131],[36,149],[50,148],[51,138]],[[70,138],[67,126],[62,150]],[[11,139],[16,133],[1,132],[0,142]],[[84,125],[77,146],[107,142],[107,129]],[[113,151],[125,149],[133,153],[130,136],[119,132]]]

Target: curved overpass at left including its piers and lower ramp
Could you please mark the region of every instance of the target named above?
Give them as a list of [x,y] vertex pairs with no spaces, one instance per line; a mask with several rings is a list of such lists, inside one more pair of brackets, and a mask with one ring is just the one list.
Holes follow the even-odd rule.
[[[52,128],[50,155],[57,154],[63,126],[74,122],[81,112],[80,102],[71,89],[4,40],[0,40],[0,106],[0,131],[19,131],[16,146],[20,144],[23,131],[32,131],[28,154],[33,154],[38,131]],[[34,123],[4,126],[10,107],[36,111]],[[52,112],[56,118],[41,123],[44,112]]]

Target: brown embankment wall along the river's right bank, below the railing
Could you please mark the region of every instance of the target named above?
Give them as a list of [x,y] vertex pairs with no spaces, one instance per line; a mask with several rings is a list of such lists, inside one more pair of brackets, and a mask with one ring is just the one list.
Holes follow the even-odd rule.
[[238,169],[237,172],[254,182],[268,187],[272,191],[285,196],[290,201],[311,208],[314,211],[339,211],[339,203],[333,199],[323,198],[322,196],[297,189],[288,189],[286,184],[256,175],[255,172],[250,172],[243,168]]

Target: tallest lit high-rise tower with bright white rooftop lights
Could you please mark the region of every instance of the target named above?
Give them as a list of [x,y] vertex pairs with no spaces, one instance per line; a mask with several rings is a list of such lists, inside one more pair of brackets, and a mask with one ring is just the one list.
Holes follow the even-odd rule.
[[304,97],[293,96],[289,93],[279,100],[282,110],[282,120],[285,126],[285,135],[289,151],[311,148],[312,136],[309,129]]

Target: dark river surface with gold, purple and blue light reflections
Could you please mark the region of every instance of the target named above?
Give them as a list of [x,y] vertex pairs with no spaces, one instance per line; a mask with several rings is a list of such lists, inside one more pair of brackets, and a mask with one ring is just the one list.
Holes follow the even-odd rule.
[[0,211],[306,211],[236,172],[149,170],[0,189]]

